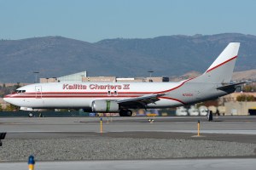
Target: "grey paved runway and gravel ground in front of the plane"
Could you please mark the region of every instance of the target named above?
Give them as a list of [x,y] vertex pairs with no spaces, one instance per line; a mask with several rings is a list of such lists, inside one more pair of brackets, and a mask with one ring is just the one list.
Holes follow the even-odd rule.
[[0,169],[27,169],[30,154],[38,159],[36,169],[256,166],[256,116],[219,116],[213,122],[201,116],[154,117],[152,123],[148,118],[103,117],[103,133],[100,117],[0,118],[0,131],[7,133]]

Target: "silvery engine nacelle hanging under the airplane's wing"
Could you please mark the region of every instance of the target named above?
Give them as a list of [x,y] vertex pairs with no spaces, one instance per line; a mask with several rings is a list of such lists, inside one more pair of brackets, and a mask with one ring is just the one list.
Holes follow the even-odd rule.
[[98,99],[91,103],[91,110],[94,112],[119,112],[119,104],[116,101]]

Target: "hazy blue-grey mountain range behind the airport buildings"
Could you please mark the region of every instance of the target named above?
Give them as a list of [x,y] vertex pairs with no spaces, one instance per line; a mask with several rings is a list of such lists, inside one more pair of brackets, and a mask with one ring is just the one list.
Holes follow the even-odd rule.
[[241,42],[236,71],[256,69],[256,37],[238,33],[106,39],[90,43],[66,37],[0,41],[0,82],[33,82],[79,71],[89,76],[172,77],[203,72],[229,42]]

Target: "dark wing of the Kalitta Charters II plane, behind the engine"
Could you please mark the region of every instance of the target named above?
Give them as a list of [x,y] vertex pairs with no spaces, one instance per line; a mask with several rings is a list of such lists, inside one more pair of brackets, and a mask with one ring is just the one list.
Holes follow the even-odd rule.
[[119,99],[117,103],[123,108],[146,108],[146,105],[154,104],[163,95],[166,94],[146,94],[137,98]]

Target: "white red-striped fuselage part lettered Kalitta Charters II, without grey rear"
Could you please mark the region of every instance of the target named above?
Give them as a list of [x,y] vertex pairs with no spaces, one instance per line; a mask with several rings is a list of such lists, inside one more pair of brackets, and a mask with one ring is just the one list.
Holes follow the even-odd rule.
[[[183,82],[55,82],[38,83],[18,88],[5,96],[13,105],[28,108],[90,108],[96,99],[130,99],[145,94],[165,94]],[[183,105],[179,99],[163,97],[148,107]]]

